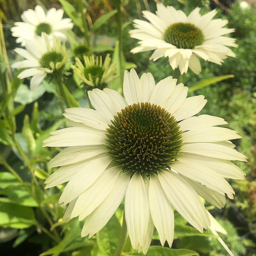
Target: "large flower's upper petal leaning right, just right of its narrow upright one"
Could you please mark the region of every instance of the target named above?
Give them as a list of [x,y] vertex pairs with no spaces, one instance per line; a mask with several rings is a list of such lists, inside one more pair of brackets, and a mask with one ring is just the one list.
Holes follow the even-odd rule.
[[167,77],[159,81],[151,93],[150,103],[163,107],[174,92],[176,83],[177,79],[173,79],[173,77]]

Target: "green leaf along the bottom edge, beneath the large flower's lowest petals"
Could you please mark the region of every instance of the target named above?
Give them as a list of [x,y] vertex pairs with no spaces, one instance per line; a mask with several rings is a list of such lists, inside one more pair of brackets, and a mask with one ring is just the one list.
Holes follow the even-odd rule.
[[[127,255],[141,256],[144,255],[142,252],[126,252]],[[150,246],[146,253],[146,256],[194,256],[199,254],[195,251],[186,249],[170,249],[162,246]]]

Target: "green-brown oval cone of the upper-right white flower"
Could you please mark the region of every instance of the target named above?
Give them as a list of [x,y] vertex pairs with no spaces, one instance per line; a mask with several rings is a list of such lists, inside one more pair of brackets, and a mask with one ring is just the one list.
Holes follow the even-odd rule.
[[194,49],[204,41],[204,34],[200,28],[189,22],[173,23],[166,28],[164,40],[177,48]]

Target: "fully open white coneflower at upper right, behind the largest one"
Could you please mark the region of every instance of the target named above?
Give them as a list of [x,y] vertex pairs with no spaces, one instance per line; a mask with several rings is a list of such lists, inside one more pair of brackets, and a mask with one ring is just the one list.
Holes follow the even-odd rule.
[[199,58],[221,65],[227,56],[236,55],[227,47],[237,47],[234,38],[223,35],[234,32],[225,28],[227,20],[212,19],[217,11],[200,15],[200,8],[195,8],[188,16],[172,6],[157,4],[156,14],[143,11],[149,21],[134,20],[135,29],[130,31],[133,38],[140,40],[140,46],[132,53],[154,50],[150,59],[168,57],[172,69],[179,68],[180,73],[187,73],[190,68],[199,74]]

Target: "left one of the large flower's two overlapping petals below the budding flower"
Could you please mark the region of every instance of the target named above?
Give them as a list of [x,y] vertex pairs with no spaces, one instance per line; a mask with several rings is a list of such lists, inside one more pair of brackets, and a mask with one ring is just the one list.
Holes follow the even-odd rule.
[[96,88],[88,91],[88,96],[94,109],[101,112],[108,119],[113,119],[113,116],[120,111],[114,104],[113,97],[102,90]]

